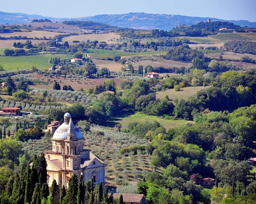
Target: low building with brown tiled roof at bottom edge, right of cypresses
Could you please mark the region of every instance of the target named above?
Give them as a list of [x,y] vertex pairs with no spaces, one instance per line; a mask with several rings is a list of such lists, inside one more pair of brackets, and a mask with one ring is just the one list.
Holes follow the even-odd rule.
[[[109,194],[108,194],[109,195]],[[124,204],[147,204],[144,194],[130,194],[130,193],[113,193],[113,198],[119,199],[123,196]]]

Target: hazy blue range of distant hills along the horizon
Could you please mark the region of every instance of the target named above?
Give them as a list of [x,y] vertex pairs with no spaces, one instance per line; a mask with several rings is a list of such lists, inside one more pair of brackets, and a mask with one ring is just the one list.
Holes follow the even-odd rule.
[[[122,28],[134,29],[163,29],[171,30],[178,24],[181,25],[194,25],[201,21],[207,21],[210,17],[189,17],[182,15],[172,14],[147,14],[147,13],[128,13],[128,14],[102,14],[92,17],[79,17],[79,18],[54,18],[44,17],[36,14],[23,14],[23,13],[6,13],[0,12],[0,24],[21,24],[30,23],[33,19],[47,18],[52,22],[69,21],[93,21],[97,23],[105,23],[111,26],[118,26]],[[239,26],[256,27],[256,22],[249,22],[247,20],[222,20],[218,18],[211,18],[212,21],[229,21]]]

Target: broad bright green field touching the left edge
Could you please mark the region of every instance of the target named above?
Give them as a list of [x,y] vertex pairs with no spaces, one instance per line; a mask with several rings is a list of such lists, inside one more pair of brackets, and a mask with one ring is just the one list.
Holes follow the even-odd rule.
[[35,65],[38,69],[48,69],[52,64],[48,63],[51,57],[60,57],[60,59],[72,58],[73,55],[34,55],[21,57],[0,56],[0,65],[5,70],[30,69]]

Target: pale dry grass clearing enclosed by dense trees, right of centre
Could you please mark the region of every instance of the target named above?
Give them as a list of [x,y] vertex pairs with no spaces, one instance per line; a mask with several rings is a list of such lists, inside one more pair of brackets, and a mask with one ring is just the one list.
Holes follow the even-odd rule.
[[[209,87],[209,86],[208,86]],[[157,98],[163,98],[164,95],[168,95],[170,100],[175,100],[180,96],[180,99],[187,100],[189,96],[196,94],[198,91],[208,88],[207,86],[196,86],[196,87],[184,87],[180,91],[175,92],[174,89],[168,89],[166,91],[157,92]]]

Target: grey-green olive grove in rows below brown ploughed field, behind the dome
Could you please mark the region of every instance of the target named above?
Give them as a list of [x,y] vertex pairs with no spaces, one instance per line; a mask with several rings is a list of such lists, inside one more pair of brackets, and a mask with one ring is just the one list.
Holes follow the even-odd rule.
[[81,103],[82,105],[93,104],[96,97],[91,97],[90,94],[78,91],[56,91],[50,90],[48,97],[54,101],[67,102],[67,103]]

